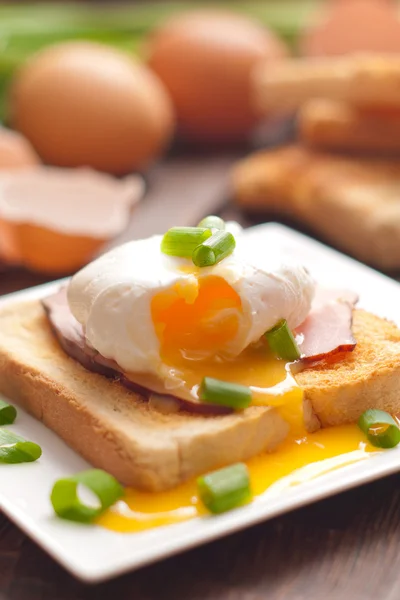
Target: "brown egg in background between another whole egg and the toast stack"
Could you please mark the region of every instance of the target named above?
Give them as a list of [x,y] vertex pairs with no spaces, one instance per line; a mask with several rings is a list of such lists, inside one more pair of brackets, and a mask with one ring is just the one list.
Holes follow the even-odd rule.
[[153,36],[148,63],[169,90],[180,132],[195,142],[236,142],[255,123],[250,73],[287,54],[257,23],[228,12],[196,11],[171,19]]

